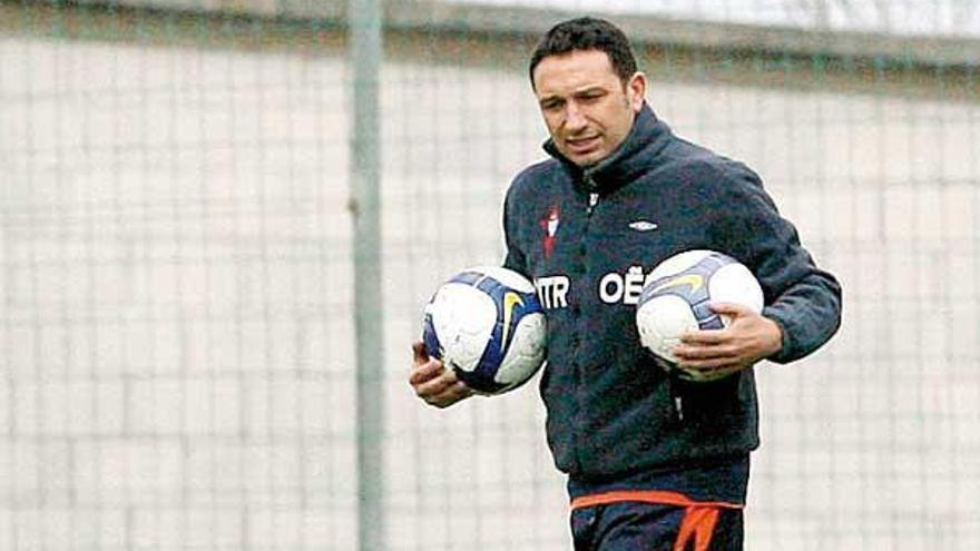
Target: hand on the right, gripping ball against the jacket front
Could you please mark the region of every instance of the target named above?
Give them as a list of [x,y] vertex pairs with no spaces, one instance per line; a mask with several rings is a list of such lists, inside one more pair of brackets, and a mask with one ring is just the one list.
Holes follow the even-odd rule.
[[674,347],[683,367],[735,373],[782,348],[783,331],[772,319],[741,304],[715,303],[710,308],[727,317],[728,326],[685,333]]

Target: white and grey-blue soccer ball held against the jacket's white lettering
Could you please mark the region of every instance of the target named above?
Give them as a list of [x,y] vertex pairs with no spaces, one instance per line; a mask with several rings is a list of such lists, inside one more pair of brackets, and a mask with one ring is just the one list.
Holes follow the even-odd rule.
[[717,302],[762,312],[762,287],[745,265],[722,253],[688,250],[667,258],[647,276],[636,305],[640,343],[666,361],[665,367],[677,370],[682,378],[707,382],[726,376],[724,371],[712,374],[684,370],[673,353],[680,335],[688,331],[727,327],[727,316],[708,308]]

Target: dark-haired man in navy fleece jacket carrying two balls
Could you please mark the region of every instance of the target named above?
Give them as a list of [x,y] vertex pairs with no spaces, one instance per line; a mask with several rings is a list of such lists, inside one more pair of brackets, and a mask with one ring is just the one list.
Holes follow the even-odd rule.
[[[545,305],[541,395],[555,462],[569,476],[576,549],[742,549],[748,454],[758,446],[752,366],[825,343],[840,325],[840,286],[752,170],[674,136],[654,115],[647,79],[611,23],[559,23],[529,72],[552,159],[508,191],[504,266],[539,288],[567,289]],[[657,367],[639,344],[635,296],[600,288],[609,274],[648,274],[693,248],[739,259],[766,301],[762,314],[715,304],[731,325],[677,345],[688,368],[732,372],[706,384]],[[438,407],[472,395],[421,343],[410,383]]]

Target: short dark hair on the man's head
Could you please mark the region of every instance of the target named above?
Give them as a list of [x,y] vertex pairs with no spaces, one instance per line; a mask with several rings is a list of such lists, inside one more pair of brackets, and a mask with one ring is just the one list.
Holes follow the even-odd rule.
[[612,70],[624,85],[636,72],[636,58],[633,57],[626,35],[605,19],[580,17],[556,24],[538,42],[528,67],[531,87],[535,87],[535,68],[542,59],[578,50],[606,52]]

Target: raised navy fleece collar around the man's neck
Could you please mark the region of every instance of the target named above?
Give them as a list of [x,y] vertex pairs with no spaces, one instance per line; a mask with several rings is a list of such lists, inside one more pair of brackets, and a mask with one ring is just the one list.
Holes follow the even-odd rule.
[[545,150],[561,161],[577,185],[589,191],[607,194],[631,181],[646,170],[650,161],[667,145],[670,128],[660,121],[649,104],[644,104],[623,144],[599,163],[581,168],[558,151],[555,141],[548,139]]

